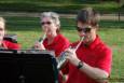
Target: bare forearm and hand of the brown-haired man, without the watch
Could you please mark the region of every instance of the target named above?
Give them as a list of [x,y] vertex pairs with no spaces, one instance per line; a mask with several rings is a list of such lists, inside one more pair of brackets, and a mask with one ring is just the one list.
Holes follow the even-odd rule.
[[[67,59],[69,60],[69,63],[78,67],[80,59],[77,57],[75,52],[72,50],[67,50],[67,55],[68,55]],[[89,78],[94,79],[99,83],[107,82],[109,73],[104,68],[101,68],[100,66],[92,67],[88,64],[84,63],[83,60],[82,64],[83,66],[79,69],[80,71],[86,73]]]

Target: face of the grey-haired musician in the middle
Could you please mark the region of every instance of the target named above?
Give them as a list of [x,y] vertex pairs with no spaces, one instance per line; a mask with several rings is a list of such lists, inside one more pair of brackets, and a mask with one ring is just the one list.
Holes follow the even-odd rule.
[[41,20],[41,25],[42,25],[43,31],[45,31],[46,36],[49,37],[56,33],[56,29],[58,28],[56,24],[50,17],[43,17]]

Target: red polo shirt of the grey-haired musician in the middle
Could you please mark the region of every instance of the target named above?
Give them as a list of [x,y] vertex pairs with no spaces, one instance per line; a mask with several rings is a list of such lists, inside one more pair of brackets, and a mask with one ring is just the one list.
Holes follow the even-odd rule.
[[57,34],[51,44],[47,44],[47,39],[45,39],[43,45],[46,50],[54,51],[57,57],[65,49],[69,47],[70,43],[63,34]]

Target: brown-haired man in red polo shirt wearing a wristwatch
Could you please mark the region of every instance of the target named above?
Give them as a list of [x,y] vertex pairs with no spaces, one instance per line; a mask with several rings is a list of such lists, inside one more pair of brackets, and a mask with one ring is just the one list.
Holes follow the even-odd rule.
[[[92,8],[82,9],[77,16],[77,30],[83,38],[75,51],[66,50],[69,61],[66,83],[106,83],[110,75],[112,52],[97,34],[98,14]],[[80,41],[72,44],[77,46]]]

